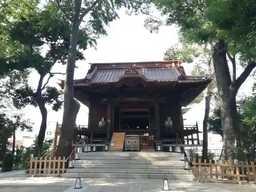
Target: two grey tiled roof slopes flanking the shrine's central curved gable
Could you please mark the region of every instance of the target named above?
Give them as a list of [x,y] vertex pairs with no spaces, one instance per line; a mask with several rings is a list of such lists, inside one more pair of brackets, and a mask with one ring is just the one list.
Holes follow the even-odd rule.
[[[127,69],[97,69],[89,78],[89,82],[114,82],[124,75]],[[178,68],[139,68],[135,69],[139,74],[144,75],[147,80],[155,81],[177,81],[181,76]]]

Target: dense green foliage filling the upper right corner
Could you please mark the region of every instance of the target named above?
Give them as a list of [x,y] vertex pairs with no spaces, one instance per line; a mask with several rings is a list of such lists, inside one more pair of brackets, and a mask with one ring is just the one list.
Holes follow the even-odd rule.
[[153,3],[167,16],[165,25],[178,25],[183,37],[199,44],[223,39],[228,43],[228,51],[239,53],[240,60],[255,58],[255,2],[158,0]]

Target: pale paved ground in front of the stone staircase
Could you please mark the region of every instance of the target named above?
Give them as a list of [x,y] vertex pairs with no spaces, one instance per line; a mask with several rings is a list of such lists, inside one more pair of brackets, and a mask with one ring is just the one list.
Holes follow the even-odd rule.
[[[0,192],[160,192],[163,180],[154,179],[82,179],[82,189],[74,189],[75,179],[60,177],[25,177],[24,174],[1,176]],[[177,192],[255,192],[256,185],[200,183],[168,180]]]

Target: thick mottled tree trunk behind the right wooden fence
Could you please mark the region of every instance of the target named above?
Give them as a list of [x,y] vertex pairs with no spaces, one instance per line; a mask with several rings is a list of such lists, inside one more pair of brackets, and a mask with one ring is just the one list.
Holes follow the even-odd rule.
[[[223,127],[223,141],[225,150],[225,159],[232,158],[234,154],[234,115],[237,112],[236,96],[232,97],[230,94],[231,78],[228,69],[226,58],[227,47],[224,40],[213,42],[212,45],[212,61],[214,63],[214,70],[219,93],[219,103],[221,112],[221,121]],[[233,100],[234,99],[234,100]],[[234,113],[232,110],[235,110]]]

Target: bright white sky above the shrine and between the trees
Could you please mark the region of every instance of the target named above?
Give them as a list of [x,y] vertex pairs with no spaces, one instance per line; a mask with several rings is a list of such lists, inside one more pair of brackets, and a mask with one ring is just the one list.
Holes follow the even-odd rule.
[[[86,76],[90,65],[88,63],[93,62],[129,62],[129,61],[158,61],[163,59],[165,50],[178,42],[177,28],[162,27],[156,34],[148,32],[144,27],[143,15],[139,16],[128,16],[124,13],[120,14],[120,19],[115,20],[110,27],[108,27],[108,36],[101,37],[98,40],[96,49],[90,48],[84,52],[86,57],[85,61],[78,61],[78,69],[75,70],[75,79],[83,78]],[[193,68],[193,65],[184,64],[185,71],[189,74],[189,71]],[[66,66],[56,65],[53,72],[65,72]],[[238,75],[241,70],[238,69]],[[51,86],[56,86],[58,79],[63,79],[61,75],[56,75],[50,80]],[[31,86],[36,87],[39,76],[36,72],[30,75],[29,83]],[[246,87],[248,84],[243,84],[239,93],[248,94],[250,89]],[[59,88],[59,87],[58,87]],[[48,122],[58,121],[61,122],[63,111],[53,112],[48,108]],[[199,123],[199,129],[202,130],[202,121],[204,115],[204,102],[195,104],[192,109],[184,116],[187,119],[184,124],[195,124],[196,121]],[[34,136],[39,131],[40,126],[40,112],[32,106],[26,109],[26,118],[30,118],[34,122],[33,133],[21,133],[17,137],[24,135]],[[81,104],[80,111],[77,116],[77,124],[88,123],[88,109],[86,106]],[[211,137],[211,136],[210,136]],[[215,137],[216,138],[216,137]],[[219,139],[217,139],[219,140]]]

